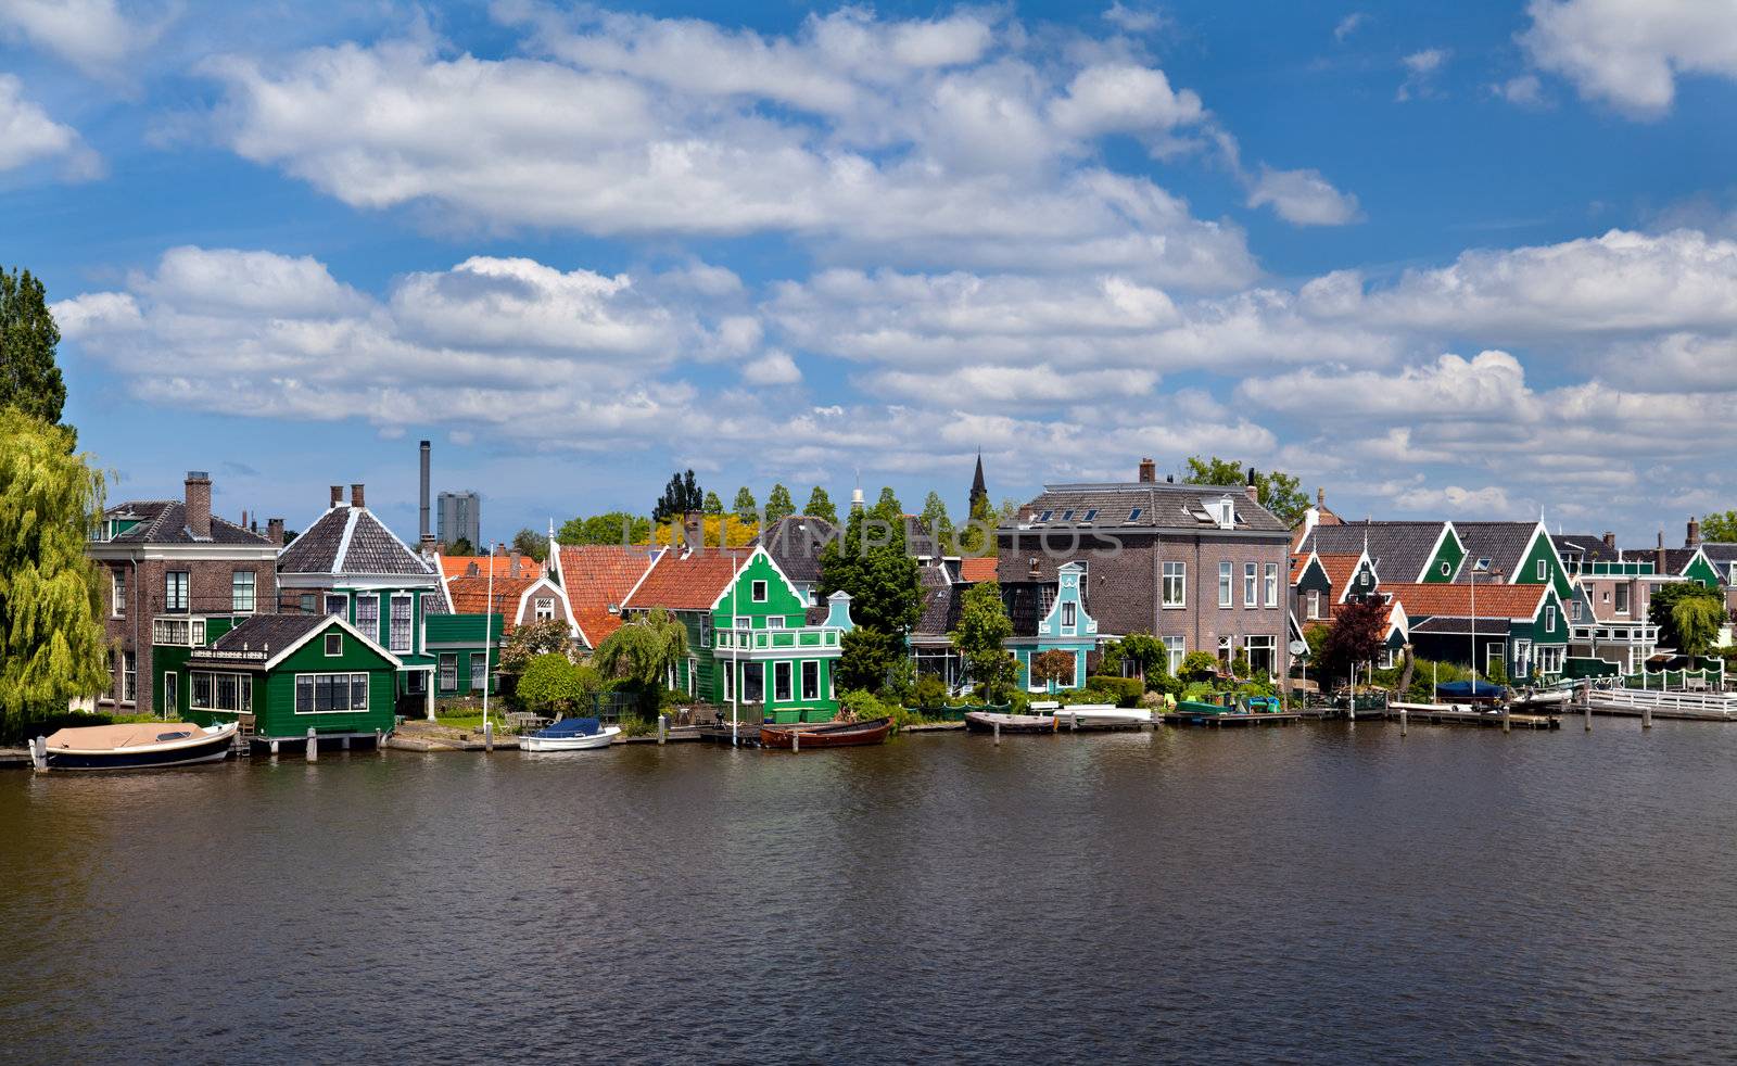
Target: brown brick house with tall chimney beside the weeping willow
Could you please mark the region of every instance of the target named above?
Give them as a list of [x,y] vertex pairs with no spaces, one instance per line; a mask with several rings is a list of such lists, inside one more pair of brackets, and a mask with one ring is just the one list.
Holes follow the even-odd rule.
[[165,701],[163,670],[153,656],[153,642],[163,641],[156,637],[191,634],[195,616],[240,620],[276,611],[283,519],[267,528],[262,535],[212,514],[212,481],[203,470],[188,472],[181,500],[129,500],[102,512],[85,549],[106,578],[101,594],[111,682],[99,705],[158,714],[165,703],[179,703],[174,691]]

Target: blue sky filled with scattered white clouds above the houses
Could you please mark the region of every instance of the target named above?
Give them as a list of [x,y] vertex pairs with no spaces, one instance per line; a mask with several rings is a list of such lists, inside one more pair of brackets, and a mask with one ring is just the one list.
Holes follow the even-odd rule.
[[981,448],[1676,538],[1737,497],[1720,7],[0,0],[0,260],[115,497],[292,528],[412,535],[431,438],[485,536]]

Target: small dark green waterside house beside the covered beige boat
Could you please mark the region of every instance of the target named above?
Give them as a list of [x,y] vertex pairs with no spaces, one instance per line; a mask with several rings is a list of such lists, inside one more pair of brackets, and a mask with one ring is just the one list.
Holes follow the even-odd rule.
[[393,731],[403,663],[337,615],[257,615],[191,648],[175,674],[181,715],[252,715],[259,743]]

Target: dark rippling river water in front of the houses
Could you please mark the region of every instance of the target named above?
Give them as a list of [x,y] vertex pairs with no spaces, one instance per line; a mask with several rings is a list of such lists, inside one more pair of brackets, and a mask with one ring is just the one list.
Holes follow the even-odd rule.
[[0,774],[9,1061],[1734,1061],[1737,731]]

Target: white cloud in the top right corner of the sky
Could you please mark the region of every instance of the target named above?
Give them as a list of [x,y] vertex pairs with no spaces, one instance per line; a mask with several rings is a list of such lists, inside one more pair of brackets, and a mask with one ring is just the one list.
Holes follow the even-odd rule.
[[1659,118],[1680,75],[1737,78],[1737,17],[1720,0],[1532,0],[1520,43],[1586,99]]

